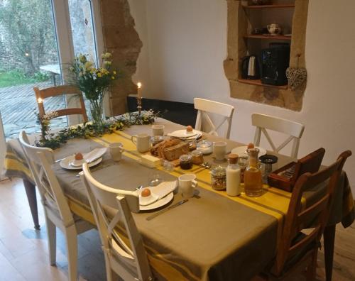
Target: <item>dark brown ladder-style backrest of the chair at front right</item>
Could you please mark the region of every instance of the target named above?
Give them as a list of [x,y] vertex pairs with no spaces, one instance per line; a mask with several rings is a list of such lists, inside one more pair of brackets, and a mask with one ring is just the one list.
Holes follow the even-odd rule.
[[[313,246],[312,249],[315,249],[319,245],[329,219],[334,189],[339,182],[346,158],[350,155],[351,151],[346,150],[339,155],[336,162],[324,170],[314,174],[307,172],[297,180],[285,217],[282,238],[278,244],[274,268],[276,275],[283,272],[284,265],[290,258],[293,258],[297,253],[302,253],[302,250],[307,249],[307,246]],[[307,206],[307,209],[302,208],[303,192],[321,183],[327,184],[324,194],[312,205]],[[305,229],[309,233],[302,232]],[[300,232],[302,232],[302,236],[300,236]]]

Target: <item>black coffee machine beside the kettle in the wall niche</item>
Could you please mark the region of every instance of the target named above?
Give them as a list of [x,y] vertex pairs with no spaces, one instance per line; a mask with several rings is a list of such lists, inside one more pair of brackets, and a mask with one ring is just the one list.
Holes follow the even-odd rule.
[[261,82],[270,85],[286,85],[286,70],[290,63],[288,43],[270,43],[269,48],[261,50]]

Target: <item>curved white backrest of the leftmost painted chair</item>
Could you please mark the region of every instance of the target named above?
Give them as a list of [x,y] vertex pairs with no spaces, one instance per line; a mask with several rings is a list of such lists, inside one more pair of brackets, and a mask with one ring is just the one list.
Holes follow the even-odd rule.
[[38,148],[30,144],[25,131],[19,137],[25,158],[40,192],[44,206],[54,206],[60,214],[64,226],[74,224],[72,212],[67,204],[62,188],[50,165],[54,164],[53,150]]

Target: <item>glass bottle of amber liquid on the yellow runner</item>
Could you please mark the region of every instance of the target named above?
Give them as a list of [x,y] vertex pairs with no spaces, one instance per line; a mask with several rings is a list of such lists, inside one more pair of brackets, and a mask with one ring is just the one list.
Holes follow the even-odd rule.
[[258,166],[258,148],[246,150],[249,156],[249,164],[244,172],[244,191],[250,197],[258,197],[263,193],[263,180]]

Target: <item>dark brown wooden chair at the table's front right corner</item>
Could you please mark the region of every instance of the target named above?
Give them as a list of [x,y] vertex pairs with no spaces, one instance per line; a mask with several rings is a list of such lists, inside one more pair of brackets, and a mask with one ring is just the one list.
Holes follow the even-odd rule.
[[[307,280],[315,280],[320,238],[329,219],[334,189],[339,181],[346,158],[350,155],[351,151],[346,150],[329,167],[314,174],[309,172],[303,174],[297,180],[283,224],[282,237],[278,241],[275,261],[267,275],[263,275],[264,277],[280,280],[295,269],[304,269],[307,266]],[[307,209],[302,209],[303,192],[322,183],[327,183],[322,197],[307,206]]]

